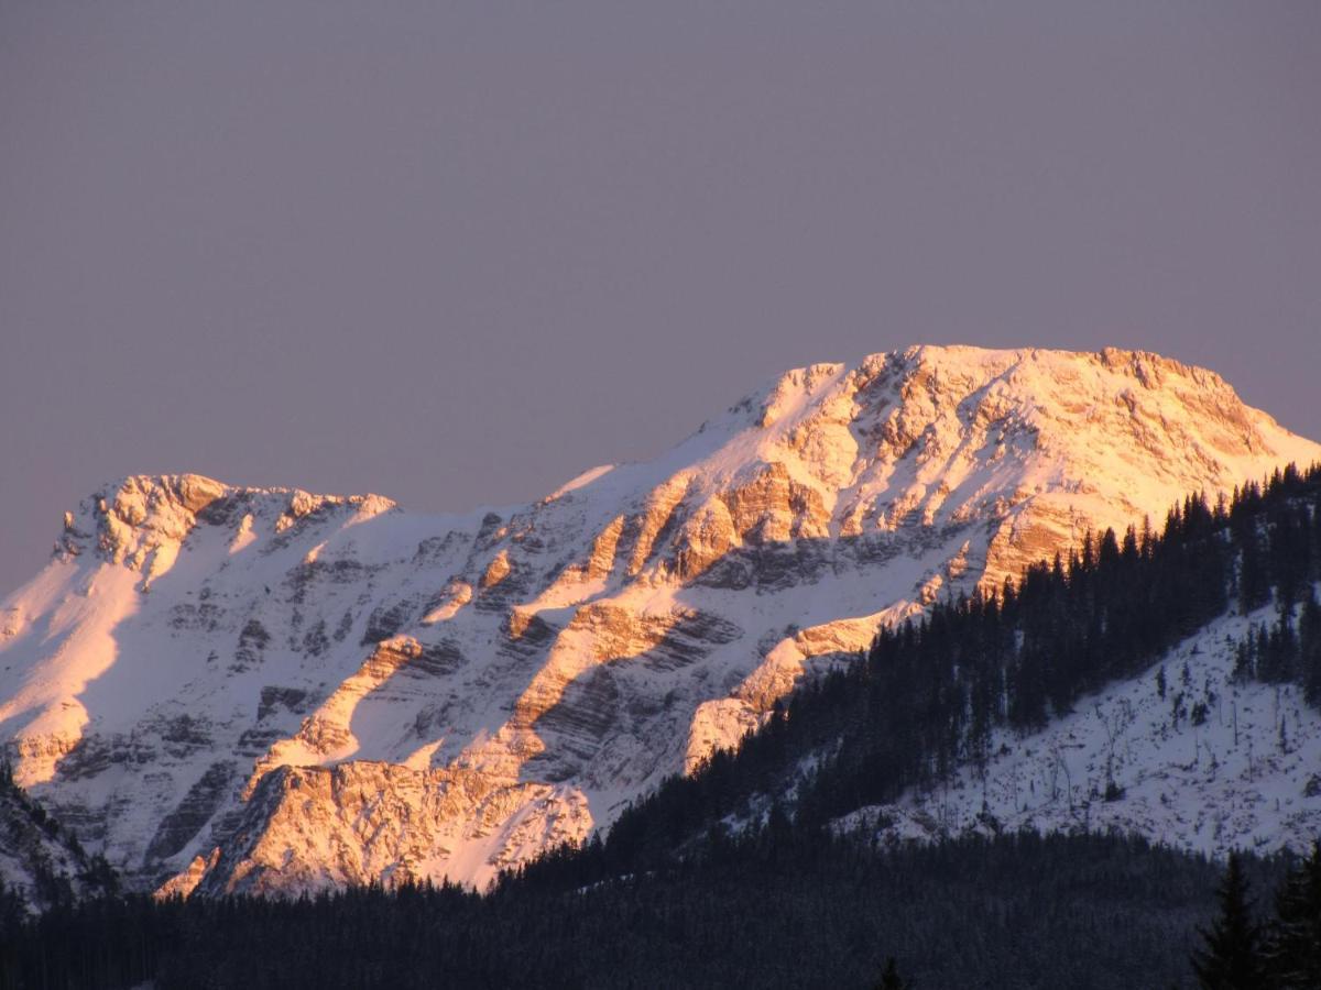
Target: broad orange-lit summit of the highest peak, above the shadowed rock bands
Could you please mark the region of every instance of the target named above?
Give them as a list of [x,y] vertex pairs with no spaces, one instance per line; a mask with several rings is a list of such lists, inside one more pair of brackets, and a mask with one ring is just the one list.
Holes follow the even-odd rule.
[[[731,412],[724,444],[696,466],[715,488],[778,463],[844,536],[1030,504],[1018,543],[1032,550],[1318,455],[1214,372],[1118,348],[914,346],[791,370]],[[1054,532],[1032,539],[1036,524]],[[1022,562],[1001,554],[992,569]]]

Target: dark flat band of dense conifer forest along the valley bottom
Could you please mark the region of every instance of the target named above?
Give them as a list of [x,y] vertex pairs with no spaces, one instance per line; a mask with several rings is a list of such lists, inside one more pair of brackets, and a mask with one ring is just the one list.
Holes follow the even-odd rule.
[[[1268,890],[1291,865],[1240,869]],[[1136,837],[885,849],[766,822],[584,888],[58,906],[0,929],[0,987],[1189,987],[1218,878]]]

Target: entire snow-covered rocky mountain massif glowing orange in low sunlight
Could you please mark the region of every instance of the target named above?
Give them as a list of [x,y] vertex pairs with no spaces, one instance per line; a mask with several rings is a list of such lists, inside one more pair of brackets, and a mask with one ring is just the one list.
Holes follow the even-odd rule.
[[513,510],[129,478],[0,605],[0,734],[144,888],[481,884],[880,623],[1318,458],[1156,355],[915,347]]

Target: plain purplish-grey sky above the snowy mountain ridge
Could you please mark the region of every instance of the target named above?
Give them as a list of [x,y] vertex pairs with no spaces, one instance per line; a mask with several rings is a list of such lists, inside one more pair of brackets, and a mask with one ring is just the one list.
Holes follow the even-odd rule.
[[1321,437],[1318,96],[1310,0],[0,0],[0,593],[118,475],[507,503],[918,342]]

